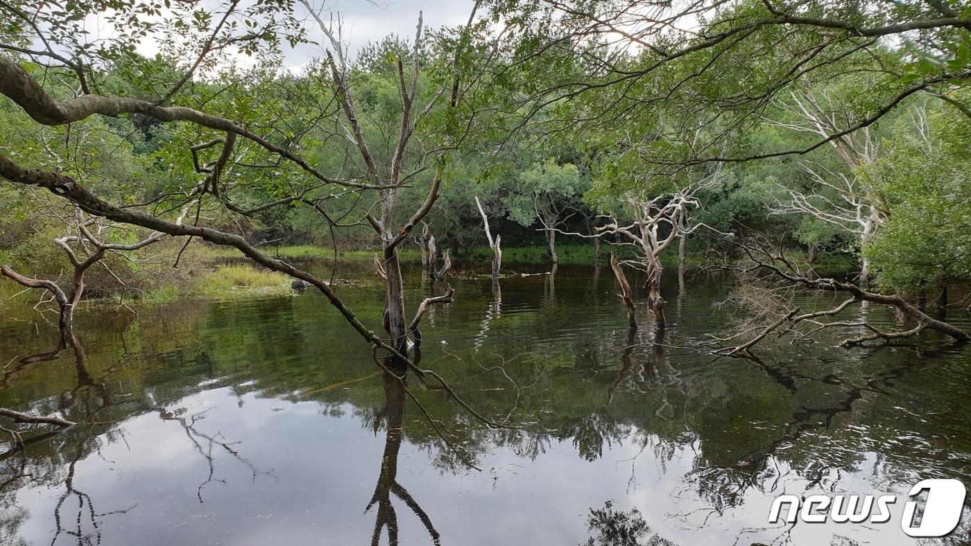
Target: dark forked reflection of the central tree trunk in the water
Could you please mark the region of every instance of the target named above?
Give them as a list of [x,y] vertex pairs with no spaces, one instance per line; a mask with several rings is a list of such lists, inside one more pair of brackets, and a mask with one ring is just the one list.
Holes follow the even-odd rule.
[[385,407],[377,415],[375,426],[384,419],[387,423],[385,435],[385,453],[382,457],[381,472],[378,474],[378,485],[374,496],[368,502],[365,511],[378,505],[378,515],[374,523],[374,534],[371,544],[377,546],[381,541],[382,530],[387,528],[387,542],[390,545],[398,543],[398,518],[391,503],[391,494],[401,499],[408,508],[418,516],[421,524],[428,530],[428,535],[434,544],[441,544],[438,531],[431,523],[428,514],[421,509],[419,503],[397,481],[398,452],[401,450],[401,440],[404,433],[405,414],[405,376],[395,376],[392,372],[385,372]]

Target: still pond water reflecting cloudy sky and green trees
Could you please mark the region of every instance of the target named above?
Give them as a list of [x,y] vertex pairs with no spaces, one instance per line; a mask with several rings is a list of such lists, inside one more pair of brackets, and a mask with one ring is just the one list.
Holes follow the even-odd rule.
[[[379,330],[381,287],[361,265],[339,271]],[[843,333],[713,359],[698,349],[730,325],[714,305],[726,281],[680,289],[670,275],[657,339],[628,333],[609,268],[498,291],[474,273],[456,272],[455,303],[426,317],[422,366],[509,427],[412,378],[449,442],[314,292],[135,318],[87,308],[74,349],[25,362],[56,332],[3,309],[0,406],[79,425],[36,427],[22,450],[0,436],[0,544],[887,546],[918,543],[899,528],[902,500],[887,524],[768,525],[769,507],[906,496],[921,478],[971,486],[971,350],[933,337],[846,350],[833,346]],[[408,284],[412,309],[442,290]],[[964,512],[926,542],[967,543]]]

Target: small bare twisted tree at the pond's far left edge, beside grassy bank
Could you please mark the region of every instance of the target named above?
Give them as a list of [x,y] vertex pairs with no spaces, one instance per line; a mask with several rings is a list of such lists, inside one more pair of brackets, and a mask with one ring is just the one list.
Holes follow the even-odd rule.
[[[184,213],[185,209],[183,215],[176,220],[177,224],[182,223]],[[67,222],[67,226],[66,235],[54,240],[54,244],[64,250],[74,268],[74,273],[71,275],[71,285],[67,290],[62,289],[53,280],[28,277],[15,272],[9,266],[0,265],[0,273],[3,276],[27,288],[40,288],[50,292],[51,300],[57,305],[57,325],[61,330],[68,328],[74,322],[74,311],[84,296],[84,273],[87,273],[95,264],[100,263],[109,273],[115,276],[118,282],[121,282],[117,275],[102,262],[108,254],[133,252],[167,237],[166,234],[156,231],[141,241],[131,244],[104,242],[104,235],[114,226],[101,218],[86,216],[80,208],[75,209],[74,216]],[[132,258],[129,257],[129,259]],[[122,284],[124,283],[122,282]]]

